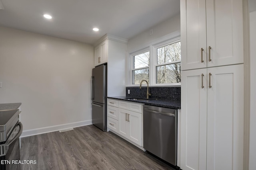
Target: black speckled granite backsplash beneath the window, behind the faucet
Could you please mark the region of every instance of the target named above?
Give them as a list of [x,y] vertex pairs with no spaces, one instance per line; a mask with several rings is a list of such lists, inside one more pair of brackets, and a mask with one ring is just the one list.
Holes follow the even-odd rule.
[[[130,90],[130,94],[128,94]],[[180,87],[149,87],[149,98],[180,100]],[[146,98],[147,87],[126,87],[126,97]]]

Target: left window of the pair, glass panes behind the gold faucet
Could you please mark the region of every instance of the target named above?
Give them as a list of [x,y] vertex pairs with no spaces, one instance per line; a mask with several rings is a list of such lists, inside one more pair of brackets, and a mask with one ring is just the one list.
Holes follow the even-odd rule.
[[149,82],[149,51],[133,56],[132,84],[140,84],[141,80]]

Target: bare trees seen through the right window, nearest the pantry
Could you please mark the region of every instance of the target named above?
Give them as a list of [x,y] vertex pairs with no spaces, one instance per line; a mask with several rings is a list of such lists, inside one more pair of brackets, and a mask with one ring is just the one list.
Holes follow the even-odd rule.
[[[156,83],[180,83],[180,42],[157,49]],[[161,64],[159,66],[159,64]]]

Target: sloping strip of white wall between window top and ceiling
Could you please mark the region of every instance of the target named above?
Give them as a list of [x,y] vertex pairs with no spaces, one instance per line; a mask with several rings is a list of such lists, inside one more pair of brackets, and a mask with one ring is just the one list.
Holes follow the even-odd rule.
[[[153,29],[152,35],[150,35],[151,29]],[[134,50],[145,47],[156,39],[159,39],[160,37],[170,34],[174,31],[180,31],[180,14],[140,33],[139,35],[136,35],[132,39],[129,39],[127,44],[127,51],[130,53]]]

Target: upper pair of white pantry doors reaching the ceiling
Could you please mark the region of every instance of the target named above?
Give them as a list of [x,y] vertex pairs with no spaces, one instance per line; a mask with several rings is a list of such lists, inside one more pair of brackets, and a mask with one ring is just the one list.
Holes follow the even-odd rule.
[[239,64],[242,0],[181,0],[182,70]]

